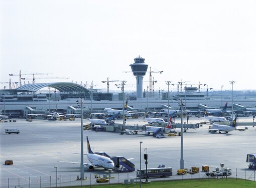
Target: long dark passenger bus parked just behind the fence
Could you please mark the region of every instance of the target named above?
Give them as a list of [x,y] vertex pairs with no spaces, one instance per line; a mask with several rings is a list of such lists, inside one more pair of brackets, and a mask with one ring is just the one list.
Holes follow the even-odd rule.
[[[137,177],[140,177],[140,172],[142,178],[146,178],[146,168],[137,169]],[[173,170],[171,167],[159,167],[159,168],[148,168],[147,176],[149,177],[166,177],[173,175]]]

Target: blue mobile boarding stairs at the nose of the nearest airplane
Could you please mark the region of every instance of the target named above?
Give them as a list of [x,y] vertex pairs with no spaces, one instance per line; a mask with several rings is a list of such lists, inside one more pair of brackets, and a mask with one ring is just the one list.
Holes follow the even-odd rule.
[[135,164],[123,156],[111,157],[114,162],[113,171],[115,172],[132,172],[135,171]]

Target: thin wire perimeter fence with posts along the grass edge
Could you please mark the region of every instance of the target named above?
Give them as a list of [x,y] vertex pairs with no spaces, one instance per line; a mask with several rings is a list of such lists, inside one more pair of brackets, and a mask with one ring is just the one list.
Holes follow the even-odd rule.
[[[178,170],[178,169],[177,169]],[[244,180],[252,180],[255,181],[255,169],[251,170],[248,168],[237,169],[235,168],[235,172],[232,171],[231,175],[228,176],[207,176],[205,172],[201,171],[199,168],[198,173],[187,173],[183,175],[177,175],[177,170],[173,169],[172,176],[162,177],[162,178],[148,178],[150,181],[172,181],[172,180],[183,180],[183,179],[210,179],[210,178],[242,178]],[[107,173],[107,178],[109,181],[107,183],[139,183],[140,178],[137,177],[136,172],[122,172],[122,173]],[[85,172],[84,177],[86,180],[78,180],[78,175],[70,174],[62,175],[58,172],[58,177],[56,176],[28,176],[28,177],[9,177],[2,178],[1,187],[2,188],[35,188],[35,187],[71,187],[71,186],[87,186],[99,184],[96,183],[96,177],[103,177],[105,174],[95,174],[93,172]],[[144,181],[145,179],[142,179]],[[106,183],[104,183],[106,184]]]

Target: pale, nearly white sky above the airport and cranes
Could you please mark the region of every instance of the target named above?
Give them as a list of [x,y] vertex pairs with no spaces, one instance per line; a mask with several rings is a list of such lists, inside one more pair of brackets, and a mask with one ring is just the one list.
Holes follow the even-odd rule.
[[[106,89],[125,80],[136,91],[130,64],[141,56],[155,91],[206,84],[213,90],[255,90],[256,1],[237,0],[2,0],[0,89],[75,82]],[[27,75],[26,75],[27,74]],[[46,75],[48,74],[48,75]],[[55,78],[58,79],[55,79]],[[49,78],[49,79],[44,79]],[[69,79],[61,79],[69,78]],[[22,84],[24,84],[22,81]],[[109,89],[120,90],[110,82]],[[201,91],[207,86],[201,86]],[[104,92],[106,90],[102,90]]]

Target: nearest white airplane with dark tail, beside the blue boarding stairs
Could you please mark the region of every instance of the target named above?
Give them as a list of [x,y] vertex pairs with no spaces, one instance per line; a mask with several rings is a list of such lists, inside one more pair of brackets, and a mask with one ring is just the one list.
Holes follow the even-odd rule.
[[[90,163],[84,163],[85,167],[89,170],[94,170],[95,167],[103,167],[105,169],[113,169],[114,162],[113,160],[108,157],[108,155],[104,152],[93,152],[90,147],[88,136],[87,139],[87,158]],[[68,161],[58,161],[58,162],[65,162],[65,163],[73,163],[73,164],[80,164],[80,162],[68,162]]]

